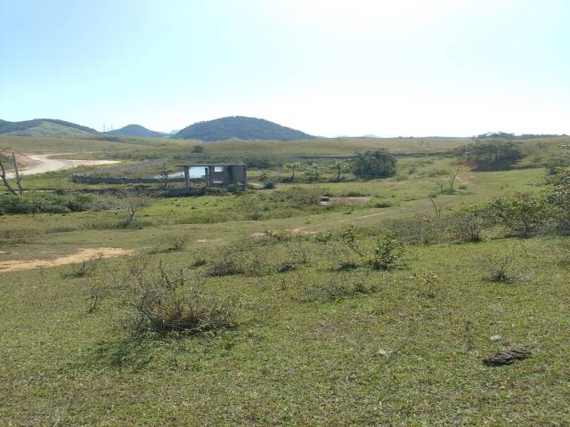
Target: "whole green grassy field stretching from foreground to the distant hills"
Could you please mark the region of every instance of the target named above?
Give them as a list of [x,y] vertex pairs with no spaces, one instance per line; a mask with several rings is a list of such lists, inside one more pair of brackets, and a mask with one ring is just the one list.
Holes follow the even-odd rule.
[[[21,152],[128,161],[188,156],[195,144],[96,141],[95,151],[94,141],[0,141]],[[128,228],[117,225],[125,206],[109,195],[102,210],[0,215],[0,265],[134,250],[85,265],[0,270],[0,425],[570,424],[567,237],[513,238],[493,227],[479,243],[406,241],[385,271],[340,240],[319,240],[354,225],[370,254],[385,230],[413,235],[407,219],[436,223],[434,204],[446,221],[468,205],[538,194],[548,189],[542,163],[560,156],[559,141],[525,141],[525,168],[463,169],[452,194],[441,189],[455,159],[436,153],[467,140],[214,142],[203,144],[206,155],[259,156],[263,144],[264,156],[288,161],[379,146],[413,156],[383,180],[346,173],[342,182],[301,179],[242,195],[152,198]],[[278,181],[289,171],[252,170],[252,179],[262,173]],[[82,188],[69,172],[27,185]],[[371,200],[326,206],[313,201],[322,194]],[[509,280],[490,280],[503,260]],[[354,266],[339,268],[347,262]],[[228,304],[232,327],[134,334],[127,284],[139,270],[158,280],[161,269],[185,270],[191,287]],[[90,310],[95,293],[101,301]],[[482,363],[510,346],[533,354],[504,367]]]

